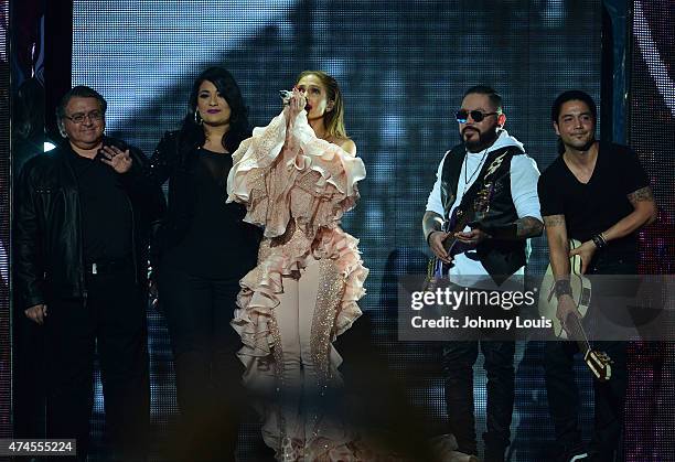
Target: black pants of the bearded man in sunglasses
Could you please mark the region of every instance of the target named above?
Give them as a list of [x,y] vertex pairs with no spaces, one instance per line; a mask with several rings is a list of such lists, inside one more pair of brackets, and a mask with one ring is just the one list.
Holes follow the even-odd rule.
[[444,394],[450,431],[459,450],[478,454],[473,413],[473,365],[479,344],[488,373],[485,461],[503,461],[511,437],[514,400],[514,342],[450,342],[443,347]]

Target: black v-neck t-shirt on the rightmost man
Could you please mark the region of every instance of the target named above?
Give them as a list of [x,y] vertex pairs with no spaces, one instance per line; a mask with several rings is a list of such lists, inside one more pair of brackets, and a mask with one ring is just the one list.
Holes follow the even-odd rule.
[[[624,146],[601,142],[588,183],[580,183],[562,155],[539,176],[542,216],[565,215],[567,235],[589,240],[633,212],[628,195],[649,186],[635,153]],[[634,251],[635,234],[612,240],[608,251]]]

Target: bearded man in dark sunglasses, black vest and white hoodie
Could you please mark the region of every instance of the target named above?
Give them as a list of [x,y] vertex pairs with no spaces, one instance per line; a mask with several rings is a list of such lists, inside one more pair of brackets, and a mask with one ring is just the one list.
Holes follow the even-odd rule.
[[[462,286],[472,290],[485,289],[483,286],[490,280],[500,290],[518,276],[522,278],[529,254],[527,239],[542,234],[539,172],[523,144],[504,130],[506,116],[502,98],[494,89],[482,85],[469,88],[457,111],[457,121],[462,143],[448,151],[438,168],[422,219],[425,238],[444,264],[440,267],[443,273],[437,276],[447,275],[450,282],[461,278]],[[488,186],[489,206],[483,204],[486,212],[463,229],[451,233],[448,224],[451,217],[457,217],[456,208],[471,209],[479,191]],[[443,246],[449,238],[457,238],[462,250],[450,255]],[[488,431],[483,441],[484,460],[489,462],[504,460],[511,437],[515,344],[501,339],[451,341],[443,347],[450,431],[459,451],[478,454],[473,365],[480,344],[488,373]]]

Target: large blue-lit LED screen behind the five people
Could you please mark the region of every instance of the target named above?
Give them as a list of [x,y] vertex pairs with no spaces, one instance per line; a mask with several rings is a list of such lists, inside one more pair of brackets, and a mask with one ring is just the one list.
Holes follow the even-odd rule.
[[[208,65],[235,75],[255,125],[278,114],[278,90],[290,88],[300,71],[334,75],[347,132],[368,172],[362,201],[343,223],[361,239],[371,269],[362,303],[372,318],[368,334],[406,377],[410,402],[442,419],[438,351],[397,342],[393,297],[397,275],[425,267],[420,219],[438,163],[459,140],[452,115],[469,86],[495,86],[510,133],[547,166],[556,155],[555,96],[568,88],[599,95],[600,15],[599,1],[76,0],[73,83],[107,97],[110,135],[150,153],[165,130],[178,128],[191,83]],[[533,243],[534,272],[545,266],[544,246]],[[153,422],[161,432],[176,408],[158,313],[150,327]],[[537,460],[551,439],[537,348],[517,355],[513,460]],[[479,415],[484,406],[484,376],[476,373]]]

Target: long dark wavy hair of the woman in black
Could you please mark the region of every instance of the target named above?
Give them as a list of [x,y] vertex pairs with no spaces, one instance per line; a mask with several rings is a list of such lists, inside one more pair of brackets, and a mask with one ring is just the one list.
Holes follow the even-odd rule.
[[250,137],[251,133],[250,125],[248,123],[248,108],[244,105],[244,97],[237,82],[227,69],[217,66],[208,67],[194,80],[192,92],[190,92],[188,115],[183,119],[179,137],[179,149],[183,158],[206,141],[204,128],[195,122],[194,117],[200,86],[204,80],[215,85],[232,110],[229,130],[223,137],[223,147],[228,152],[234,152],[239,147],[239,143]]

